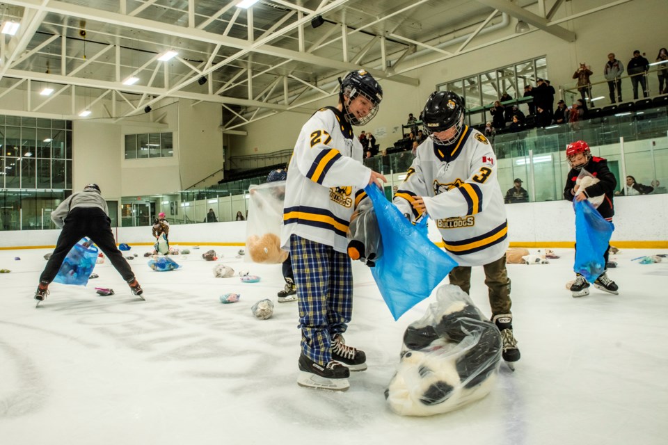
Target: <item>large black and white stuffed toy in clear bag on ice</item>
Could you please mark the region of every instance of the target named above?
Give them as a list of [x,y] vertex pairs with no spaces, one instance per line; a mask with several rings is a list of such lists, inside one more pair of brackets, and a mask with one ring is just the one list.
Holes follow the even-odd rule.
[[405,416],[456,410],[491,391],[501,352],[498,328],[470,297],[459,286],[441,286],[427,313],[406,328],[385,398]]

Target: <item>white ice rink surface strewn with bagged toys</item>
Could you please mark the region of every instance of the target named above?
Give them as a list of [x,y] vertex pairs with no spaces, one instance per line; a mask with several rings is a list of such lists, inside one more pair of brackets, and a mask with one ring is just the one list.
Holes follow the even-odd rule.
[[[619,296],[592,287],[571,298],[573,250],[554,249],[561,258],[550,264],[509,265],[516,372],[502,366],[482,401],[418,418],[391,412],[383,391],[404,329],[433,297],[395,322],[369,269],[354,263],[346,339],[365,350],[369,369],[351,373],[347,392],[306,389],[296,385],[297,304],[276,302],[280,265],[237,259],[239,248],[214,247],[220,258],[209,262],[209,247],[179,247],[191,254],[166,273],[146,265],[148,247],[129,252],[139,254],[130,264],[145,302],[106,261],[87,287],[51,284],[37,309],[49,250],[0,251],[0,268],[11,270],[0,274],[0,444],[667,443],[668,260],[631,261],[667,250],[613,255]],[[262,281],[215,278],[220,263]],[[474,268],[471,296],[489,315],[483,280]],[[116,295],[97,296],[95,286]],[[241,300],[222,305],[228,292]],[[276,303],[266,321],[250,312],[262,298]]]

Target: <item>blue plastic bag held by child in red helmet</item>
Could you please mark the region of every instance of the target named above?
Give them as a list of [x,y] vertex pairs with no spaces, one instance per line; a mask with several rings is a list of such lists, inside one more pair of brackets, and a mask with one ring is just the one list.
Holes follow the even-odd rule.
[[588,282],[594,282],[605,271],[603,254],[610,245],[614,225],[606,221],[601,213],[587,200],[573,200],[575,207],[575,273],[584,275]]

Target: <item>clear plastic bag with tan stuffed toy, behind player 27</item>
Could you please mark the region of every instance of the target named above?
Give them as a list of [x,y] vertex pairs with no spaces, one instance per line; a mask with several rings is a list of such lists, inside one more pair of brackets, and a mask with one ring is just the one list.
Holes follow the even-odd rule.
[[246,250],[255,263],[278,264],[287,259],[280,248],[280,229],[283,225],[285,181],[250,186]]

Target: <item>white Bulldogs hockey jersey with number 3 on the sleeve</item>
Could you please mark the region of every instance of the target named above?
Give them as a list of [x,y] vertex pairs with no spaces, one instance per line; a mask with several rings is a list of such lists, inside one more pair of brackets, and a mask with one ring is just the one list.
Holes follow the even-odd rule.
[[508,248],[503,195],[496,158],[485,136],[464,127],[452,145],[434,145],[431,138],[417,147],[393,202],[401,213],[420,218],[411,202],[424,199],[427,213],[460,266],[482,266],[502,257]]

